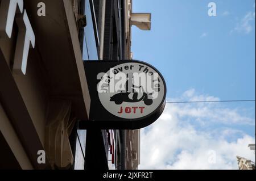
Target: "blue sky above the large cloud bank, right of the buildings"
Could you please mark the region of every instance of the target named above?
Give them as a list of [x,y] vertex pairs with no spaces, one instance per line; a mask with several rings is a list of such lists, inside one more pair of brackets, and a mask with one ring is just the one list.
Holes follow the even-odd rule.
[[[216,3],[217,16],[208,16],[209,2]],[[254,0],[133,0],[133,12],[152,16],[151,31],[132,28],[133,58],[163,74],[169,100],[255,99]],[[191,113],[184,115],[172,107]],[[238,144],[245,136],[255,142],[255,102],[169,105],[167,109],[168,115],[178,115],[177,123],[189,124],[199,134],[215,131],[213,140],[218,130],[229,130],[232,135],[223,137],[229,143]],[[199,110],[207,110],[208,116]],[[154,124],[142,136],[147,129],[153,131]]]

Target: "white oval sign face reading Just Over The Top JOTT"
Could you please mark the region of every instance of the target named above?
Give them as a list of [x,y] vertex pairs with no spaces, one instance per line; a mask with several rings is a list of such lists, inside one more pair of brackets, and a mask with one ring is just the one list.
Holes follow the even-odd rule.
[[119,64],[98,79],[100,102],[117,117],[138,119],[150,115],[165,99],[162,77],[140,62]]

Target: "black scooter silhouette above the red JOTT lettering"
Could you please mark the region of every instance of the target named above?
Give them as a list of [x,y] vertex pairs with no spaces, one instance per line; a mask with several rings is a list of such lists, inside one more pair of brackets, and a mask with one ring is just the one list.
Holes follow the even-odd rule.
[[128,103],[140,102],[141,100],[143,100],[144,104],[146,104],[147,106],[150,106],[153,103],[153,100],[148,98],[148,95],[152,95],[152,93],[147,94],[146,92],[143,92],[142,97],[139,99],[130,99],[129,98],[130,94],[132,94],[132,92],[120,92],[110,97],[110,101],[115,102],[115,104],[117,105],[122,104],[123,102],[128,102]]

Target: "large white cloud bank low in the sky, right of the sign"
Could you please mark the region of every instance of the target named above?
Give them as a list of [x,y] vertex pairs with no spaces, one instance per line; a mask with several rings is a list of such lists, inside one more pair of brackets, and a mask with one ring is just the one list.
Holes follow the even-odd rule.
[[[180,99],[184,98],[218,100],[196,95],[193,89],[185,91]],[[222,127],[214,128],[215,123]],[[255,138],[230,124],[255,127],[255,120],[218,103],[167,104],[162,116],[141,130],[139,169],[238,169],[237,155],[255,161],[248,148]],[[213,153],[216,163],[210,161]]]

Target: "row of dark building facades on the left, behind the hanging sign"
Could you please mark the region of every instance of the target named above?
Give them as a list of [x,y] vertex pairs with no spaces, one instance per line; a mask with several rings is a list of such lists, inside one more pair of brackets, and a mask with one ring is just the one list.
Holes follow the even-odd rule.
[[131,59],[130,0],[0,0],[0,169],[137,169],[139,130],[81,129],[83,61]]

